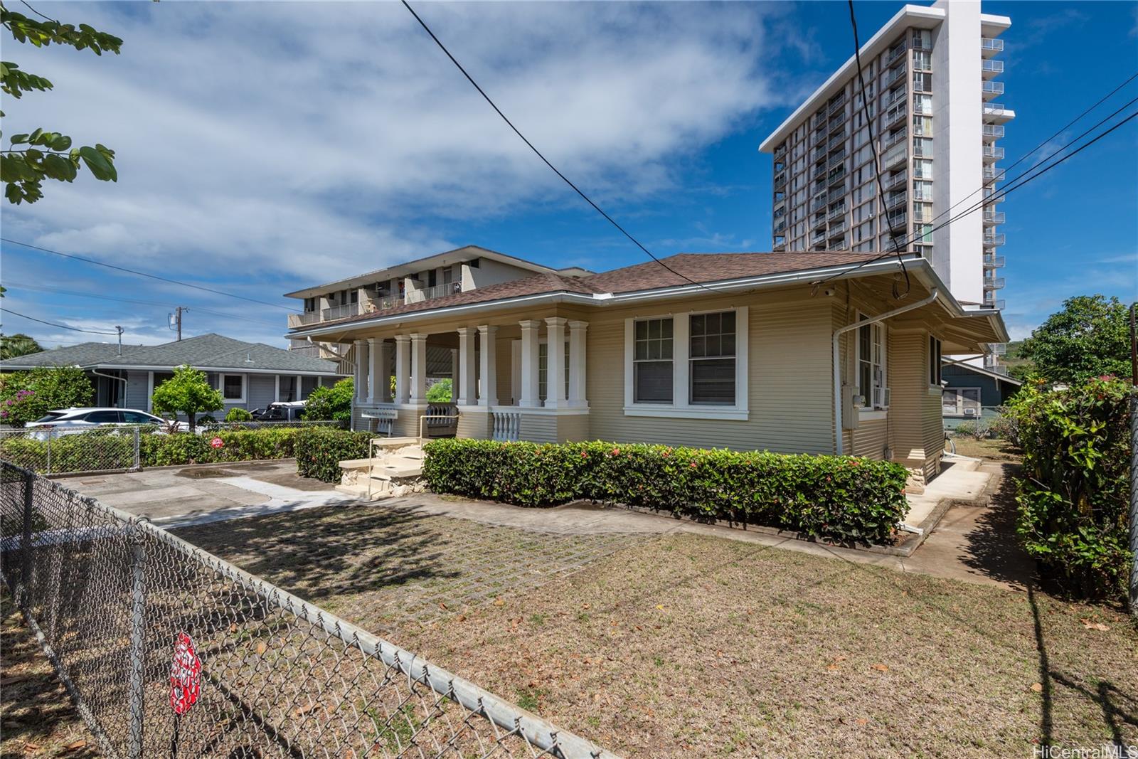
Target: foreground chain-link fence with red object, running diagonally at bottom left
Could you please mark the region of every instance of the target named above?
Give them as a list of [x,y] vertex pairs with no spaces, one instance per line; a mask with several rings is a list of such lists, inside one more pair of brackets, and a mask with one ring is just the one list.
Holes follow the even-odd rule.
[[0,572],[108,757],[615,759],[7,462]]

